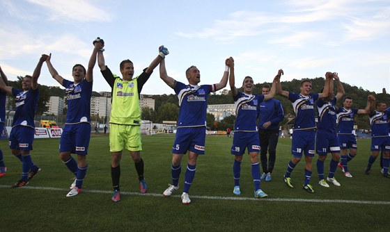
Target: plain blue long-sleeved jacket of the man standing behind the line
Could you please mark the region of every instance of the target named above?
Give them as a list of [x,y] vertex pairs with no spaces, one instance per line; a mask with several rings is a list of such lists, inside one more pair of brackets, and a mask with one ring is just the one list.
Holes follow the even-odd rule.
[[[276,99],[270,99],[260,103],[258,128],[263,130],[279,130],[279,122],[284,119],[283,107],[281,102]],[[265,129],[263,124],[271,122],[272,124]]]

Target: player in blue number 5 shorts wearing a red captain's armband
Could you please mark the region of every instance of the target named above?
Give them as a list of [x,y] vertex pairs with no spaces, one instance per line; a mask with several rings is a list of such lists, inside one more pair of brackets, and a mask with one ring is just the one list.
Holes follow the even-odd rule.
[[194,65],[189,67],[185,72],[189,85],[176,81],[166,74],[165,60],[162,60],[159,65],[160,78],[178,94],[180,106],[178,130],[176,131],[175,142],[172,148],[172,185],[169,185],[169,188],[164,191],[163,195],[165,197],[171,196],[172,192],[178,190],[182,158],[189,151],[181,199],[182,204],[189,204],[191,202],[188,192],[194,180],[196,160],[198,155],[205,154],[208,95],[210,92],[225,88],[228,83],[229,66],[232,62],[233,58],[226,59],[224,75],[221,81],[214,85],[198,85],[201,82],[201,72]]

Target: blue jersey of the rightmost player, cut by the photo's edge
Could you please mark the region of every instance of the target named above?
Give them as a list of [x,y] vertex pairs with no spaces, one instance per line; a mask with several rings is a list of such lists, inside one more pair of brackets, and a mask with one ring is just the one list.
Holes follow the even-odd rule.
[[370,116],[371,124],[371,136],[372,137],[389,137],[389,117],[390,108],[384,110],[384,112],[377,112],[375,110]]

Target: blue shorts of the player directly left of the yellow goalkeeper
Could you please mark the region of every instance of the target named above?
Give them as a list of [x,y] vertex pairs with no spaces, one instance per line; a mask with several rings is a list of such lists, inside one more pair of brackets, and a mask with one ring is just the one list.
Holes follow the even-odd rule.
[[77,155],[88,154],[89,140],[91,139],[91,124],[65,124],[61,134],[60,152]]

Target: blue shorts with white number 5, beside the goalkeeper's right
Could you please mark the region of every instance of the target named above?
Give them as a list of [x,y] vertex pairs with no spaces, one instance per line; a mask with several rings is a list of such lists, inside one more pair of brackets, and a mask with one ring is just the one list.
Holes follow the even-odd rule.
[[205,126],[180,127],[176,131],[175,142],[173,143],[173,154],[186,154],[192,151],[196,154],[205,154]]

